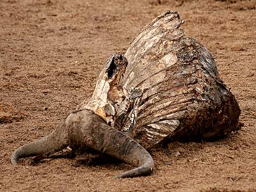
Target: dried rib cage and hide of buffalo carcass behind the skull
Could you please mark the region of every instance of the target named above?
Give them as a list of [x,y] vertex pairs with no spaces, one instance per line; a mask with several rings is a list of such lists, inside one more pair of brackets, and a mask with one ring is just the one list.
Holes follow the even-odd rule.
[[211,53],[184,35],[177,12],[164,12],[132,41],[122,86],[143,92],[134,139],[145,148],[201,141],[239,129],[237,101]]

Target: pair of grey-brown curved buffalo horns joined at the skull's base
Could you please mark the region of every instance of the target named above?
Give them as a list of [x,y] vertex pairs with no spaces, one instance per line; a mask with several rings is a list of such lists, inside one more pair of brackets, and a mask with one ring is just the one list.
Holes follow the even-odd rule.
[[137,167],[118,175],[117,178],[149,175],[154,170],[154,160],[145,148],[129,136],[110,127],[103,118],[90,109],[71,113],[49,136],[17,148],[12,154],[11,161],[12,164],[17,164],[21,157],[44,158],[68,145],[90,147]]

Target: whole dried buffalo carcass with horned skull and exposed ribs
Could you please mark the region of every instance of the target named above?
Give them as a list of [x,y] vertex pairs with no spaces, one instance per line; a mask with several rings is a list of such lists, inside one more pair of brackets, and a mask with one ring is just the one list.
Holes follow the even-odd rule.
[[210,52],[184,36],[182,23],[170,11],[152,20],[127,50],[129,63],[122,55],[111,56],[92,98],[52,134],[15,150],[12,163],[20,157],[45,158],[67,146],[90,147],[138,166],[118,176],[136,177],[154,170],[145,148],[239,129],[234,95]]

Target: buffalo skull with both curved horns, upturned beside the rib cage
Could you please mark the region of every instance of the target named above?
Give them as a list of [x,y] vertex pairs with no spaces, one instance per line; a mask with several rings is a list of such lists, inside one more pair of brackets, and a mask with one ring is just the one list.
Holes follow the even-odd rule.
[[[69,145],[72,148],[93,148],[138,166],[118,178],[150,174],[154,170],[154,160],[147,150],[129,136],[109,126],[117,124],[116,121],[124,124],[126,118],[123,116],[129,116],[132,100],[140,96],[131,92],[135,95],[132,97],[120,86],[120,78],[126,66],[124,56],[113,54],[100,73],[92,98],[68,115],[65,122],[52,134],[17,148],[11,157],[12,164],[17,164],[21,157],[36,156],[36,160],[46,158]],[[124,106],[125,110],[120,111]],[[117,120],[116,113],[120,115]]]

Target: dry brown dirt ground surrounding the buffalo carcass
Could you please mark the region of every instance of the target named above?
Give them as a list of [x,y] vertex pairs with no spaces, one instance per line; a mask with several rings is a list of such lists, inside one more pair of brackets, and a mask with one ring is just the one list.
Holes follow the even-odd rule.
[[[151,19],[177,10],[214,55],[241,107],[241,131],[152,152],[149,177],[124,163],[29,159],[15,148],[52,132],[90,97],[102,66]],[[0,0],[0,191],[256,191],[256,1]],[[95,162],[93,162],[95,160]]]

